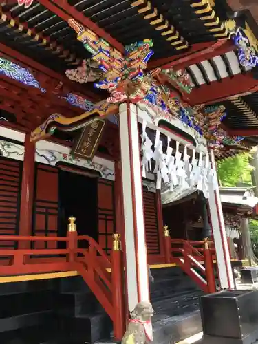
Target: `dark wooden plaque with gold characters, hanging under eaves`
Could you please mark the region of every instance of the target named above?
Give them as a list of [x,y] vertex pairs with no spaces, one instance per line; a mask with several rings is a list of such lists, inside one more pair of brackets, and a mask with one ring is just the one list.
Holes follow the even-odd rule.
[[105,120],[95,118],[87,122],[75,140],[71,155],[81,159],[93,159],[100,144],[105,127]]

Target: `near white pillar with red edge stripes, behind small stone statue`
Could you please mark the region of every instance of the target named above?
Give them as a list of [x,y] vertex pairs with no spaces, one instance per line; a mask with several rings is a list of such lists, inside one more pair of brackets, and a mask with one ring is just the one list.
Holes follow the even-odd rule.
[[149,301],[147,248],[142,202],[142,171],[136,105],[119,107],[122,163],[122,206],[125,217],[125,256],[129,311],[140,301]]

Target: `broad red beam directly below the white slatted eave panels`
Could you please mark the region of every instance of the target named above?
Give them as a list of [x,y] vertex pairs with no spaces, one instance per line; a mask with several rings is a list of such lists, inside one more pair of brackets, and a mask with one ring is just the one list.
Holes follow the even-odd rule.
[[211,85],[194,88],[189,94],[189,103],[191,105],[215,103],[233,96],[251,94],[257,89],[258,80],[253,78],[252,72],[237,74],[233,78],[224,78],[221,82],[213,81]]

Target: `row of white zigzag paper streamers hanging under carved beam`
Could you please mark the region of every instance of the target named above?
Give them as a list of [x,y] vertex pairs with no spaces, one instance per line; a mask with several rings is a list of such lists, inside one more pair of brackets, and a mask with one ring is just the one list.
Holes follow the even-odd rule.
[[[169,186],[170,191],[180,189],[200,190],[204,197],[209,197],[209,189],[215,186],[215,171],[211,166],[208,154],[199,153],[196,158],[195,150],[191,149],[191,155],[187,153],[188,148],[184,146],[184,153],[180,153],[180,142],[176,142],[175,151],[170,146],[171,138],[167,136],[166,153],[163,153],[163,142],[160,140],[160,131],[155,133],[155,143],[148,137],[146,132],[147,123],[142,122],[142,177],[147,173],[155,173],[157,177],[156,188],[160,190],[162,184]],[[154,147],[154,148],[153,148]],[[153,168],[153,162],[155,166]]]

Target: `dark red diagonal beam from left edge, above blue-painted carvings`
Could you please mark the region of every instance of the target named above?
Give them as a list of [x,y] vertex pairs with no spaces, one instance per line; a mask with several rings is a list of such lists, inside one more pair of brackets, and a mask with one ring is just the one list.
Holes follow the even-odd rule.
[[81,85],[69,80],[66,76],[54,72],[40,63],[37,63],[32,58],[25,56],[10,47],[7,47],[3,43],[0,43],[0,56],[6,58],[22,67],[30,70],[37,80],[41,83],[41,87],[50,90],[50,92],[58,86],[59,83],[63,84],[64,92],[71,92],[78,94],[83,98],[98,102],[100,97],[91,91],[83,90]]

